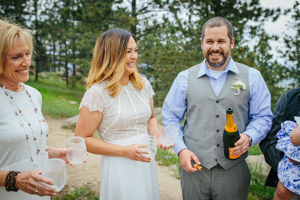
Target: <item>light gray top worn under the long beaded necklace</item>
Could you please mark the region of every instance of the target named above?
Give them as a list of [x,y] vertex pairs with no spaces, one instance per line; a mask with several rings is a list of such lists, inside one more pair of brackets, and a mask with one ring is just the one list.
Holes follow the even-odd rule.
[[[25,85],[25,89],[31,95],[31,98],[36,106],[37,113],[40,114],[42,120],[44,119],[41,108],[42,108],[42,96],[35,89],[28,85]],[[5,89],[6,90],[6,89]],[[9,168],[9,171],[16,170],[13,167],[16,163],[31,162],[31,164],[22,165],[22,171],[32,170],[32,169],[43,169],[45,159],[47,159],[48,154],[42,155],[45,153],[47,147],[47,133],[49,130],[48,125],[44,124],[43,121],[41,123],[38,121],[39,115],[35,113],[35,107],[32,103],[30,103],[30,97],[26,94],[24,90],[21,93],[13,92],[8,90],[8,95],[5,94],[3,88],[0,88],[0,170],[4,170]],[[15,103],[10,105],[10,95],[13,97]],[[18,109],[22,111],[23,116],[27,119],[32,127],[32,130],[35,134],[37,144],[35,143],[34,136],[32,130],[30,129],[28,123],[24,117],[18,112]],[[18,116],[16,115],[16,111],[18,112]],[[24,128],[20,124],[20,121],[24,123]],[[41,130],[43,130],[43,134],[41,134]],[[26,139],[26,133],[28,134],[28,139]],[[37,148],[38,145],[38,148]],[[30,151],[29,151],[30,148]],[[37,155],[37,149],[40,150],[40,153]],[[30,154],[31,153],[31,154]],[[38,166],[34,166],[31,157],[33,158],[33,162],[38,162]],[[10,169],[10,165],[12,168]],[[5,170],[7,171],[7,170]]]

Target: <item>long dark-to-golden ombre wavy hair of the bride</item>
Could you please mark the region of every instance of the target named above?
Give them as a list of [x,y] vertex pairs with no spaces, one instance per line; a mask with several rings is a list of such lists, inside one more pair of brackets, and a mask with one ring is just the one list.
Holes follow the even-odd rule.
[[[105,89],[109,91],[110,96],[120,94],[122,90],[120,79],[125,72],[127,46],[131,36],[137,42],[134,34],[121,28],[111,28],[101,34],[93,50],[86,89],[108,79],[109,83]],[[134,62],[134,73],[129,75],[129,80],[137,90],[141,90],[145,84],[138,72],[137,62],[138,58]]]

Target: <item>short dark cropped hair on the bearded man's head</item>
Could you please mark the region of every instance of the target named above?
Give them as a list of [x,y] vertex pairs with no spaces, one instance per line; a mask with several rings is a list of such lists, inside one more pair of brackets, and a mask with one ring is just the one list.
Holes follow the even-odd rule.
[[232,24],[223,17],[214,17],[214,18],[209,19],[207,22],[205,22],[205,24],[202,27],[202,33],[201,33],[202,40],[204,39],[204,36],[205,36],[205,29],[213,28],[216,26],[226,26],[227,32],[228,32],[228,37],[229,37],[230,41],[232,40],[232,38],[233,38]]

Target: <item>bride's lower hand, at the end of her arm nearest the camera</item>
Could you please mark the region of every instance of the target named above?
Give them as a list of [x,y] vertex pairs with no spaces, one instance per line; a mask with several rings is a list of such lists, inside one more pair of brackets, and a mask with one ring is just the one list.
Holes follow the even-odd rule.
[[[147,147],[147,145],[145,147]],[[140,149],[140,144],[124,146],[124,157],[126,158],[146,163],[150,163],[153,160],[152,157],[145,156],[142,154],[150,154],[150,151]]]

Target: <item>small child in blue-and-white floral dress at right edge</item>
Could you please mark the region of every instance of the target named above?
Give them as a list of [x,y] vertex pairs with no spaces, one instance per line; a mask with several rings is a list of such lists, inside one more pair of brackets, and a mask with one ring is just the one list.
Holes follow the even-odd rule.
[[278,163],[279,178],[274,200],[291,199],[300,193],[300,117],[295,121],[284,121],[276,134],[279,138],[276,148],[284,152],[283,159]]

